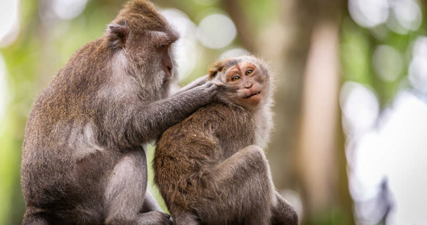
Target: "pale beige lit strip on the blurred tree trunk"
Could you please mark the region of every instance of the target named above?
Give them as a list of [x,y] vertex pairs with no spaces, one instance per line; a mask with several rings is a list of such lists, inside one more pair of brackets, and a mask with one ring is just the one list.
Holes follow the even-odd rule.
[[338,115],[338,24],[315,24],[303,87],[298,169],[309,212],[333,202],[336,187],[336,117]]

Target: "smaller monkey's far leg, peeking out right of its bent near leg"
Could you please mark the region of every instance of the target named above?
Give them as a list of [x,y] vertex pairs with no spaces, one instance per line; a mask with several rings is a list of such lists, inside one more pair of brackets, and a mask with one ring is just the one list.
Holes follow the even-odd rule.
[[276,192],[276,202],[272,207],[272,225],[298,225],[298,214],[294,207],[286,202],[282,196]]

